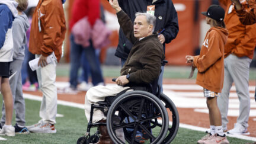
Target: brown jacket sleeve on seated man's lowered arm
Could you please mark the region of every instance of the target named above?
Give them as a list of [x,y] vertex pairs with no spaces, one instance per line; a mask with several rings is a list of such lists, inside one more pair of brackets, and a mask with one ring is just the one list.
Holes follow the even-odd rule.
[[161,56],[159,50],[149,49],[146,56],[140,58],[143,69],[130,73],[130,82],[136,84],[149,84],[158,78],[161,71]]

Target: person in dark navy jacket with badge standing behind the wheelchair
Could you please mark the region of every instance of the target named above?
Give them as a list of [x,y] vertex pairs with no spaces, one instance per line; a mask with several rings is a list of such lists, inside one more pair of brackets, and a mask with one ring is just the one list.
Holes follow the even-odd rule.
[[[149,12],[156,17],[155,32],[161,32],[158,39],[164,46],[165,43],[170,43],[178,34],[178,16],[174,4],[171,0],[119,0],[119,5],[126,12],[132,21],[135,20],[136,12]],[[132,49],[132,43],[126,39],[123,30],[119,31],[119,44],[115,55],[121,58],[121,66],[126,62],[127,56]],[[161,75],[159,76],[158,85],[161,86],[162,92],[162,77],[164,66],[161,67]]]

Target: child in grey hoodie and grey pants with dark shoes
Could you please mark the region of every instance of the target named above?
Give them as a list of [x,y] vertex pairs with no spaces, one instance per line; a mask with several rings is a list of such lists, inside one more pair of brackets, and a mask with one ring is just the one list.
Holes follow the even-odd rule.
[[[16,114],[15,133],[28,134],[28,129],[25,127],[25,101],[23,98],[21,84],[21,66],[24,59],[24,51],[26,44],[26,31],[30,26],[27,15],[23,11],[27,8],[28,0],[16,0],[18,2],[18,16],[15,17],[12,23],[12,37],[14,41],[13,61],[10,63],[9,73],[12,78],[9,79],[11,86],[12,98],[14,100],[14,109]],[[2,105],[1,126],[5,123],[5,107]]]

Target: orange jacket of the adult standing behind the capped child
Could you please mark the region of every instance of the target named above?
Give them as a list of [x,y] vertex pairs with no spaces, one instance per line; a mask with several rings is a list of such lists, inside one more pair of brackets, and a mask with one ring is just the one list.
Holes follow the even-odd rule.
[[[233,53],[238,57],[247,56],[252,59],[256,46],[256,25],[242,24],[231,0],[219,0],[219,2],[226,6],[224,22],[229,31],[225,57]],[[247,7],[246,0],[241,0],[241,4],[248,11],[251,9]]]

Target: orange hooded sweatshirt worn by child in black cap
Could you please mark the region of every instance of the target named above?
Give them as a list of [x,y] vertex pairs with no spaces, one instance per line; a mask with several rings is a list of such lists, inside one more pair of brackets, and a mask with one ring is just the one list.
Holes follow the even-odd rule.
[[196,84],[214,92],[221,92],[224,80],[224,46],[228,30],[212,27],[204,38],[199,56],[194,56],[198,69]]

